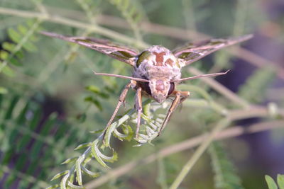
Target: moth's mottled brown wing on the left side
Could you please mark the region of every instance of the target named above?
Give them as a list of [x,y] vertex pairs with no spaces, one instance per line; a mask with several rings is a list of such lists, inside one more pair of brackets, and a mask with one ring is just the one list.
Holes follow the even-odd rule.
[[64,35],[59,35],[57,33],[48,33],[48,32],[40,32],[43,35],[48,35],[53,38],[59,38],[61,40],[66,40],[70,42],[75,42],[77,44],[83,45],[85,47],[89,47],[90,49],[97,50],[98,52],[102,52],[109,57],[113,57],[114,59],[118,59],[121,62],[125,62],[127,64],[131,64],[134,66],[130,58],[136,57],[138,52],[129,47],[123,47],[121,45],[116,45],[114,43],[109,42],[109,40],[102,40],[97,38],[84,38],[84,37],[67,37]]

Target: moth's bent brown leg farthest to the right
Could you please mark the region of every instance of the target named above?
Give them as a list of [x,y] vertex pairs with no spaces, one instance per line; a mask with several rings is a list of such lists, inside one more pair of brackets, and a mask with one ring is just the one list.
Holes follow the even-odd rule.
[[158,132],[158,136],[165,128],[165,125],[167,125],[168,120],[170,119],[170,115],[175,111],[175,109],[178,107],[180,103],[185,101],[185,99],[190,96],[190,92],[188,91],[173,91],[173,96],[175,96],[175,99],[173,100],[172,105],[170,105],[170,108],[168,109],[168,113],[165,116],[165,120],[163,121],[162,126],[160,127],[160,130]]

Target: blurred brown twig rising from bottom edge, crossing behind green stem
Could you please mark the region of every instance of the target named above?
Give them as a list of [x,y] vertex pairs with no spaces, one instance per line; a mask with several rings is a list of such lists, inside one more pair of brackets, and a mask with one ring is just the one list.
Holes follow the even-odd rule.
[[[242,134],[263,132],[266,130],[272,130],[272,129],[279,128],[279,127],[284,127],[284,120],[261,122],[261,123],[250,125],[249,127],[235,126],[235,127],[231,127],[229,129],[223,130],[222,132],[219,132],[219,134],[217,134],[214,137],[214,140],[228,139],[232,137],[238,137]],[[104,176],[97,178],[97,180],[90,181],[89,183],[85,185],[85,187],[89,189],[97,188],[100,185],[107,183],[107,181],[111,179],[118,178],[119,176],[122,176],[126,173],[130,173],[131,171],[133,171],[134,168],[137,168],[137,166],[145,166],[146,164],[150,164],[158,158],[163,158],[165,156],[169,156],[171,154],[184,151],[186,149],[192,149],[193,147],[197,147],[197,145],[200,144],[202,141],[204,141],[204,139],[207,138],[207,136],[208,134],[202,134],[200,136],[193,137],[191,139],[182,141],[178,144],[173,144],[169,147],[165,147],[164,149],[160,149],[160,151],[156,152],[155,154],[151,154],[149,156],[143,157],[143,159],[133,160],[129,162],[128,164],[124,164],[123,166],[120,166],[119,168],[115,168],[109,171]]]

